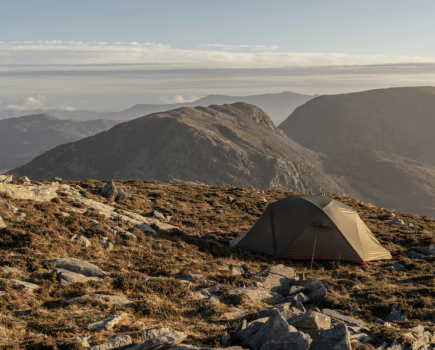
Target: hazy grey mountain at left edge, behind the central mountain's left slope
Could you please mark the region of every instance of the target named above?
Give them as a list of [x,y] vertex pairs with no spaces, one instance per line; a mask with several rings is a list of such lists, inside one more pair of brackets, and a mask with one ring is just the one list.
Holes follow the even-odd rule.
[[0,120],[0,170],[31,161],[60,144],[110,129],[117,120],[60,120],[48,114]]

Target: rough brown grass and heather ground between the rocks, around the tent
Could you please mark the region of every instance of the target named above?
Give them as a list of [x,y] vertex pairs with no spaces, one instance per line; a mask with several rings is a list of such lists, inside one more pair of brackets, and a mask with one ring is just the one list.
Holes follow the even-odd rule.
[[[4,349],[78,349],[71,338],[92,335],[94,344],[103,343],[118,334],[128,334],[133,341],[148,328],[167,327],[183,331],[186,341],[216,346],[223,333],[234,328],[238,320],[226,320],[225,314],[233,306],[252,313],[264,309],[264,303],[246,298],[224,298],[212,304],[183,295],[186,290],[176,279],[142,282],[144,275],[171,276],[178,273],[197,273],[206,280],[220,283],[222,293],[227,289],[253,285],[243,276],[232,276],[232,265],[260,271],[274,264],[292,266],[298,273],[329,283],[328,295],[318,307],[328,307],[348,314],[349,306],[362,311],[357,317],[367,322],[372,343],[381,344],[404,333],[375,322],[384,318],[393,303],[398,303],[407,321],[398,322],[403,330],[417,324],[431,329],[434,320],[434,258],[410,259],[407,252],[415,247],[434,244],[435,221],[425,216],[398,213],[348,197],[331,196],[359,212],[380,243],[392,253],[394,261],[370,262],[361,266],[342,261],[309,261],[273,259],[262,254],[230,248],[228,240],[246,231],[267,203],[295,195],[283,191],[236,189],[201,185],[168,185],[147,181],[117,181],[129,197],[115,203],[101,197],[99,181],[63,182],[72,186],[95,186],[85,196],[113,205],[118,212],[137,211],[150,216],[152,210],[172,216],[171,224],[178,230],[154,235],[112,222],[88,210],[84,214],[68,208],[86,206],[62,196],[52,202],[38,203],[17,200],[0,194],[0,202],[13,204],[26,214],[11,213],[0,206],[0,216],[7,228],[0,230],[0,278],[16,278],[41,286],[31,292],[20,290],[9,281],[0,280],[0,344]],[[233,197],[233,202],[225,198]],[[267,200],[267,203],[263,201]],[[61,212],[69,212],[65,217]],[[414,228],[392,226],[394,212]],[[92,226],[89,219],[100,224]],[[122,226],[138,238],[110,235],[104,228]],[[83,234],[92,243],[86,248],[72,241],[74,234]],[[114,249],[108,252],[100,243],[108,237]],[[112,272],[113,280],[61,285],[51,266],[39,259],[72,257],[87,260],[101,269]],[[392,271],[388,267],[399,262],[405,269]],[[16,267],[21,273],[2,272],[2,266]],[[346,282],[346,283],[345,283]],[[199,280],[196,281],[200,285]],[[207,284],[204,284],[207,286]],[[87,293],[122,295],[135,303],[127,306],[108,301],[85,300],[67,305],[66,300]],[[109,314],[127,316],[111,330],[89,331],[81,326],[103,319]],[[432,329],[433,331],[434,329]],[[0,346],[1,348],[1,346]]]

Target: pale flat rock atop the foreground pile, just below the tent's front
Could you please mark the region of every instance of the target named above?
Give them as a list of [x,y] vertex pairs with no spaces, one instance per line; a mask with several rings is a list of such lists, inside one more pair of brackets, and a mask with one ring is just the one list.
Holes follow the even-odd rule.
[[257,286],[279,293],[290,289],[294,277],[293,268],[280,264],[269,267],[251,278],[257,282]]

